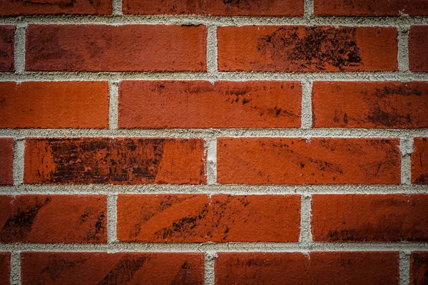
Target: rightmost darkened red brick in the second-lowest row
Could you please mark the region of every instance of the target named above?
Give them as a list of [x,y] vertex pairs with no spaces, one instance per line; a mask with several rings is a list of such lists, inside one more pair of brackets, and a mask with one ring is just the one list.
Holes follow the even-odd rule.
[[317,242],[427,242],[428,195],[313,195]]

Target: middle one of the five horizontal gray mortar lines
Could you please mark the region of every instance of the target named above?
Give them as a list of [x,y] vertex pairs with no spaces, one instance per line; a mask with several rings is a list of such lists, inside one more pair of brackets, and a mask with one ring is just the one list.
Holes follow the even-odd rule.
[[[119,119],[120,120],[120,119]],[[414,138],[427,137],[428,129],[0,129],[0,137],[99,138]]]

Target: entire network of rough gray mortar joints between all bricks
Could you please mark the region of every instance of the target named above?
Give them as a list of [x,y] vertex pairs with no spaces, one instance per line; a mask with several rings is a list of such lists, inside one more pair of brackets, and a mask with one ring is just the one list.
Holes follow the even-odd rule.
[[[214,284],[216,252],[310,252],[310,251],[399,251],[400,285],[409,284],[409,253],[428,250],[427,243],[320,243],[312,242],[310,232],[311,196],[316,193],[395,194],[428,193],[424,185],[410,185],[410,154],[414,137],[427,137],[428,130],[311,129],[310,108],[313,81],[427,81],[428,73],[409,72],[408,31],[412,25],[428,24],[426,16],[401,17],[317,17],[313,0],[305,0],[305,16],[129,16],[121,12],[121,0],[113,0],[113,16],[24,16],[0,17],[0,24],[16,26],[15,73],[1,73],[0,81],[108,81],[110,90],[109,130],[0,130],[1,137],[15,139],[14,186],[0,187],[2,195],[81,194],[108,195],[108,244],[0,244],[1,251],[11,251],[11,281],[21,284],[20,252],[204,252],[205,284]],[[25,30],[29,24],[167,24],[207,26],[207,73],[150,72],[28,72],[25,63]],[[217,27],[245,25],[309,26],[391,26],[399,31],[398,72],[378,73],[260,73],[218,72]],[[118,130],[118,89],[123,80],[205,80],[215,81],[302,81],[302,129],[207,129],[207,130]],[[23,185],[25,137],[173,137],[203,138],[207,143],[208,185]],[[335,138],[400,138],[403,185],[217,185],[216,138],[218,137],[335,137]],[[302,195],[301,236],[297,243],[225,243],[215,244],[128,244],[116,237],[116,199],[119,193],[205,193],[231,195],[300,194]]]

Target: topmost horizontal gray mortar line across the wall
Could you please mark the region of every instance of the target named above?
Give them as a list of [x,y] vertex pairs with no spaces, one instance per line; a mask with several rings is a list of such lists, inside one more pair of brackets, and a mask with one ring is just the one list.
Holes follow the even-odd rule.
[[114,16],[16,16],[0,17],[0,24],[211,24],[243,25],[317,25],[317,26],[400,26],[427,24],[427,16],[357,17],[357,16],[190,16],[190,15],[114,15]]

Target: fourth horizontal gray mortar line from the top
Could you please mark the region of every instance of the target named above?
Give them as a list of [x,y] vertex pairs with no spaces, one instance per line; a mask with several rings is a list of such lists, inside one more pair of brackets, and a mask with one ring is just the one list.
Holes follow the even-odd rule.
[[427,185],[15,185],[0,186],[0,195],[109,194],[428,194]]

